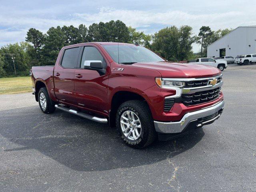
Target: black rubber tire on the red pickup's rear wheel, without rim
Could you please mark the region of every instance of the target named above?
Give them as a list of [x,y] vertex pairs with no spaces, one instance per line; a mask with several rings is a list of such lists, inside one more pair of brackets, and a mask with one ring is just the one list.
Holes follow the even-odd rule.
[[[41,93],[44,94],[45,99],[46,99],[46,107],[45,108],[41,106],[41,102],[40,102]],[[53,113],[55,111],[55,106],[54,106],[55,102],[50,99],[50,96],[48,94],[48,91],[47,91],[46,87],[40,88],[40,90],[38,92],[38,103],[39,103],[39,106],[40,106],[42,112],[44,112],[46,114],[50,114],[50,113]]]

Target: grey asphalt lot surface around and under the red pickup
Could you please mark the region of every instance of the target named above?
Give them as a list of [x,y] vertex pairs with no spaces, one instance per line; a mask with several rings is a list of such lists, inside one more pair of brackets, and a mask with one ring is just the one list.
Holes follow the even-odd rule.
[[224,70],[214,124],[144,149],[31,94],[0,96],[0,191],[256,191],[256,65]]

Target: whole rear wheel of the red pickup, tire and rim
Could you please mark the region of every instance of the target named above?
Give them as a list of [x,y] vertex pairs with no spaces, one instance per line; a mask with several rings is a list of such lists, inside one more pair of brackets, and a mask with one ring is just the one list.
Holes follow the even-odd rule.
[[40,88],[38,92],[38,102],[42,112],[50,114],[55,111],[55,103],[50,99],[46,87]]

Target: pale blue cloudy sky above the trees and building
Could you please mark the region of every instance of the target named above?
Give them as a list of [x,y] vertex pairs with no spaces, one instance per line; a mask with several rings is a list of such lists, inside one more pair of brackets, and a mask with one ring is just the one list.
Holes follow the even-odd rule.
[[29,28],[46,32],[51,26],[118,19],[146,34],[172,25],[190,25],[198,34],[203,25],[256,25],[255,7],[255,0],[0,0],[0,46],[24,41]]

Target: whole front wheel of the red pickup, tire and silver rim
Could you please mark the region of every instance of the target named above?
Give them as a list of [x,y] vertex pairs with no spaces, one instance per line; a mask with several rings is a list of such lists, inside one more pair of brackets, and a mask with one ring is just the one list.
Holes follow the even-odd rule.
[[116,114],[116,127],[128,146],[144,148],[156,139],[156,131],[148,105],[140,100],[126,101]]

